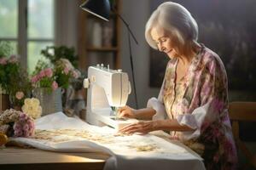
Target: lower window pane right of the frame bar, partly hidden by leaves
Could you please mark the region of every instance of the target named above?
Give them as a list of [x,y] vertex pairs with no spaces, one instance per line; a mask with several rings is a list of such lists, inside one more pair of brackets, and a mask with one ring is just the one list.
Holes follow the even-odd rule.
[[[37,65],[38,59],[45,59],[41,50],[46,46],[52,46],[52,42],[28,42],[27,71],[31,74]],[[46,60],[46,59],[45,59]]]

